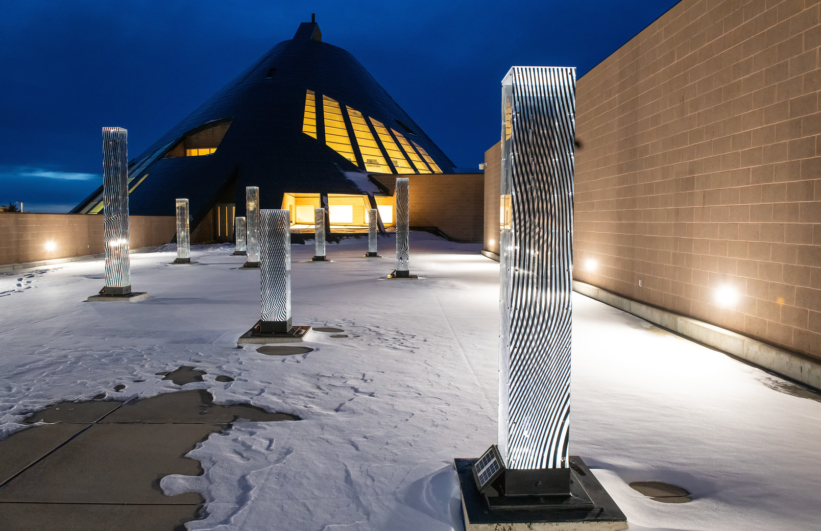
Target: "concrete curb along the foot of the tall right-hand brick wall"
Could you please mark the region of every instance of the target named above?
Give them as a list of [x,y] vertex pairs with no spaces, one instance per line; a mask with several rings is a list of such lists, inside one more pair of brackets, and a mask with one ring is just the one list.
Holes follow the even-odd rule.
[[573,281],[573,290],[604,304],[623,309],[650,323],[658,324],[660,327],[665,327],[714,349],[768,368],[810,387],[821,389],[821,361],[810,359],[797,352],[790,352],[777,346],[768,345],[764,341],[742,336],[698,319],[627,299],[611,291],[603,290],[598,286]]

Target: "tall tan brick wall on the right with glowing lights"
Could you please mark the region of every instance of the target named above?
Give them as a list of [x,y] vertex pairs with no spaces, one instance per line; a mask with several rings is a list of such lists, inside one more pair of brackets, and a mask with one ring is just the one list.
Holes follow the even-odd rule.
[[574,277],[821,357],[819,45],[817,0],[683,0],[582,77]]

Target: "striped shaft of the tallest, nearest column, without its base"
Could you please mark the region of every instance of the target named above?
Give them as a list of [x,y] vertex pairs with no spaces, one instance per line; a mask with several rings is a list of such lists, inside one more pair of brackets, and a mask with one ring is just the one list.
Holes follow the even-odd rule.
[[502,80],[499,450],[510,469],[566,468],[570,419],[576,69]]

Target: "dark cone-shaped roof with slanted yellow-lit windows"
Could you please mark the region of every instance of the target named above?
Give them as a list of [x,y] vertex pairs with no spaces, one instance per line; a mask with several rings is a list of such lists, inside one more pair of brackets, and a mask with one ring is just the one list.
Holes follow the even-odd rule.
[[[130,211],[173,215],[187,198],[197,224],[218,202],[242,215],[250,185],[261,208],[282,208],[285,192],[365,193],[357,172],[452,173],[453,163],[355,57],[305,22],[134,158]],[[102,212],[101,199],[102,189],[72,212]]]

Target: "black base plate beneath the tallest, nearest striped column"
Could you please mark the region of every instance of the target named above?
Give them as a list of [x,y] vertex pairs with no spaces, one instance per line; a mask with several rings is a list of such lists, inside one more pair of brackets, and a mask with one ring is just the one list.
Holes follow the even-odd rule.
[[[465,518],[466,531],[495,531],[505,529],[510,531],[534,531],[545,529],[550,531],[618,531],[627,529],[627,518],[613,501],[612,497],[599,483],[599,480],[590,472],[585,462],[578,455],[571,455],[573,461],[572,477],[579,483],[578,487],[589,497],[589,501],[582,503],[567,497],[557,503],[539,503],[530,497],[521,501],[514,501],[516,497],[508,497],[505,502],[502,498],[495,498],[506,508],[488,506],[484,495],[476,488],[471,465],[475,459],[455,459],[456,474],[459,476],[461,490],[462,516]],[[590,506],[592,502],[592,507]],[[518,506],[517,506],[518,505]]]

